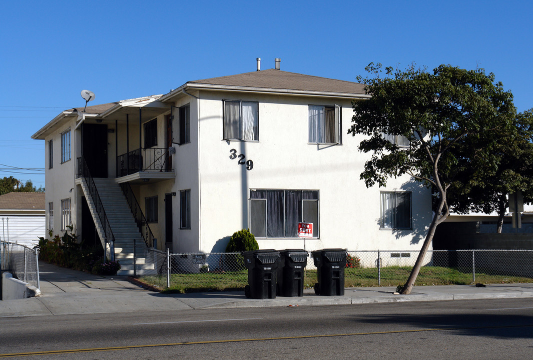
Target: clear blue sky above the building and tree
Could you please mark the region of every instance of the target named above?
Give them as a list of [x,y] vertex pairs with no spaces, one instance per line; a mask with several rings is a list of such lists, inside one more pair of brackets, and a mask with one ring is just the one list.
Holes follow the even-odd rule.
[[[22,5],[23,4],[23,5]],[[533,4],[496,1],[4,1],[0,177],[44,186],[37,130],[60,111],[164,94],[189,80],[274,67],[356,81],[381,62],[494,72],[533,107]],[[11,171],[11,170],[9,170]]]

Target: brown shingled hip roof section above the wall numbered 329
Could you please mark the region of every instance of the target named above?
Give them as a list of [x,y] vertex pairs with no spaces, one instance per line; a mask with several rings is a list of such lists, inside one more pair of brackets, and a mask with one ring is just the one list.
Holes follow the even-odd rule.
[[188,84],[260,87],[296,91],[365,94],[365,85],[350,81],[322,78],[276,69],[245,72],[237,75],[189,81]]

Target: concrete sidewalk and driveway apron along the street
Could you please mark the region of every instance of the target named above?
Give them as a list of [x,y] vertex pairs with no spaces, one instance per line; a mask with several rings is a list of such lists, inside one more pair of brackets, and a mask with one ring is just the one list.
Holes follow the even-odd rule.
[[533,298],[533,284],[494,284],[414,287],[409,295],[395,288],[346,288],[344,296],[247,299],[244,291],[159,294],[127,281],[125,276],[98,276],[39,262],[41,296],[0,301],[0,317],[127,313],[150,310],[197,310],[274,306],[369,304],[400,301]]

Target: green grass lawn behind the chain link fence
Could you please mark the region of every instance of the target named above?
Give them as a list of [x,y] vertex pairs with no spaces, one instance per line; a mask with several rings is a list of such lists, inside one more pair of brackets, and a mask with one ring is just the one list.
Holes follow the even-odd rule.
[[[381,286],[396,287],[403,285],[411,272],[411,267],[389,266],[381,268]],[[166,287],[166,275],[143,276],[142,282],[158,287],[164,293],[187,293],[200,291],[236,291],[244,290],[248,284],[248,271],[239,272],[207,272],[198,274],[171,274],[171,286]],[[304,288],[312,288],[317,282],[317,270],[305,271]],[[475,282],[495,283],[531,283],[530,277],[490,275],[477,273]],[[462,272],[458,269],[423,266],[416,279],[415,286],[421,285],[467,285],[472,284],[472,273]],[[344,286],[352,287],[377,287],[377,268],[345,268]]]

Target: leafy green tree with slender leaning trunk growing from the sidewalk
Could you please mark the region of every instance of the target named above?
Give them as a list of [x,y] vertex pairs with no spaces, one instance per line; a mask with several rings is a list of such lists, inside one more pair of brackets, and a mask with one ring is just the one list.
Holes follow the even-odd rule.
[[[512,94],[494,74],[483,69],[464,70],[441,65],[432,73],[413,64],[405,71],[371,63],[374,77],[358,80],[372,96],[353,102],[349,133],[366,139],[359,150],[370,153],[360,178],[367,186],[385,186],[390,177],[412,176],[435,189],[434,216],[415,266],[402,293],[411,292],[435,228],[448,217],[449,189],[457,189],[456,176],[465,169],[461,186],[470,189],[494,176],[502,159],[502,134],[515,132],[516,110]],[[384,134],[404,136],[408,147],[399,147]],[[471,151],[466,153],[465,150]]]

